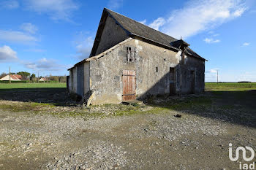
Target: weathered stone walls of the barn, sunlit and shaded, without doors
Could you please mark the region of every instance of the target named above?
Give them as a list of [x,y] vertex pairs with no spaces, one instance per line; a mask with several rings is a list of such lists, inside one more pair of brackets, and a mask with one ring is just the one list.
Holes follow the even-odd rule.
[[[135,62],[127,62],[127,47],[135,53]],[[162,47],[132,39],[97,60],[83,63],[83,95],[89,90],[95,92],[92,104],[120,103],[123,94],[123,70],[136,71],[136,95],[138,99],[148,95],[170,94],[170,68],[175,68],[176,93],[202,93],[204,91],[205,61],[185,56],[181,63],[181,52],[173,52]],[[72,90],[76,93],[80,84],[72,69]],[[77,71],[78,70],[78,71]],[[195,90],[192,90],[192,72],[195,73]],[[75,79],[75,80],[74,80]],[[79,93],[80,94],[80,93]],[[80,94],[83,96],[82,94]]]

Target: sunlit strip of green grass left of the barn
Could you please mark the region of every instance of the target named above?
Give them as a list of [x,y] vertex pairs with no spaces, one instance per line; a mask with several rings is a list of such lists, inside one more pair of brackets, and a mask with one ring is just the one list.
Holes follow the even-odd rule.
[[66,88],[66,83],[12,83],[0,84],[0,89],[12,88]]

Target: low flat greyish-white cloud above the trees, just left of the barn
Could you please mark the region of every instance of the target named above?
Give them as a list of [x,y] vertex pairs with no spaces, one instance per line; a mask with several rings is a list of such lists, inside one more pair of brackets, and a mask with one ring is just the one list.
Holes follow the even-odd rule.
[[47,58],[41,58],[36,62],[22,61],[22,63],[26,68],[37,71],[60,71],[68,68],[67,66],[59,64],[59,61]]

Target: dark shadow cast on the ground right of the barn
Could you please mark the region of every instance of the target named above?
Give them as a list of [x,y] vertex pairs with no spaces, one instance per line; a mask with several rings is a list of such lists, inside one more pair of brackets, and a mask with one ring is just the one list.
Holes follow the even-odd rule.
[[256,90],[208,91],[203,95],[157,98],[148,104],[256,128]]

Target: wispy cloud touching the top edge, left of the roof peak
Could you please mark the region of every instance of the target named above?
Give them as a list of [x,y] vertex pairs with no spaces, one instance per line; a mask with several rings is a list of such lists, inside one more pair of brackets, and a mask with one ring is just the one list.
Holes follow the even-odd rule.
[[70,20],[72,12],[78,9],[73,0],[24,0],[27,9],[47,14],[53,20]]

